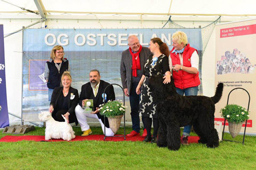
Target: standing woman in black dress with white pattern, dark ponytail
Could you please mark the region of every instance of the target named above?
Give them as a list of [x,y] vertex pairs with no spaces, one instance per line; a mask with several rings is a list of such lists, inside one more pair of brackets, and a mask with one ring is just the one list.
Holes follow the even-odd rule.
[[[151,39],[148,48],[152,52],[152,55],[147,59],[145,70],[136,88],[136,92],[139,94],[141,87],[139,113],[144,117],[144,124],[147,131],[144,141],[155,143],[157,141],[159,121],[156,113],[156,102],[152,99],[152,91],[148,87],[148,80],[151,76],[161,74],[164,75],[164,84],[170,82],[170,69],[168,65],[169,48],[160,38]],[[151,137],[152,118],[154,126],[153,138]]]

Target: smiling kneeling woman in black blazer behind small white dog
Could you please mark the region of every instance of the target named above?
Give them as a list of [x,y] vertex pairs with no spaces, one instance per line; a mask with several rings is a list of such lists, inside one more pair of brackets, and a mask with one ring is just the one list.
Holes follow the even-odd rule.
[[49,111],[52,117],[58,122],[65,122],[65,116],[69,123],[76,123],[75,107],[78,104],[78,91],[71,87],[72,78],[69,71],[63,72],[61,76],[62,87],[53,90]]

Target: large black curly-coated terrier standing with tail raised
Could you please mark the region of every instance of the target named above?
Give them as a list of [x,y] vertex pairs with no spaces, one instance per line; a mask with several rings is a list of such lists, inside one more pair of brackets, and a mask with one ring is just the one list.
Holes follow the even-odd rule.
[[150,78],[149,87],[153,100],[157,101],[156,112],[159,119],[158,147],[169,150],[180,148],[180,127],[193,125],[198,134],[199,143],[206,143],[209,148],[219,146],[219,137],[214,128],[215,104],[222,96],[223,83],[219,83],[213,97],[181,96],[176,92],[174,79],[163,84],[163,76]]

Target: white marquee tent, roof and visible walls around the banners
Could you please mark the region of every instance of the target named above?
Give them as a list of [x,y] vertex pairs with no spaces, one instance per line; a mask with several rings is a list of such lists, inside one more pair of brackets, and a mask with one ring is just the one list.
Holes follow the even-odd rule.
[[[169,16],[186,28],[256,17],[256,2],[247,1],[49,1],[0,0],[0,24],[4,25],[7,98],[9,112],[22,110],[22,32],[25,28],[162,28]],[[17,33],[16,33],[17,32]],[[12,34],[15,33],[15,34]],[[203,56],[204,95],[214,94],[215,32]],[[206,88],[207,87],[207,88]],[[10,117],[11,123],[20,121]]]

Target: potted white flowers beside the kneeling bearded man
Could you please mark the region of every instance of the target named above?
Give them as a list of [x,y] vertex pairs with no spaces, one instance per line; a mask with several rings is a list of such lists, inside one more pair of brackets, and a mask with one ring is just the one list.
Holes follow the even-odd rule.
[[121,101],[109,101],[100,105],[100,114],[108,117],[110,129],[116,134],[120,127],[121,119],[125,114],[125,108]]

